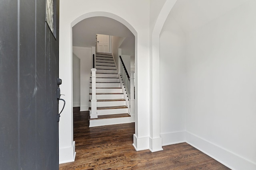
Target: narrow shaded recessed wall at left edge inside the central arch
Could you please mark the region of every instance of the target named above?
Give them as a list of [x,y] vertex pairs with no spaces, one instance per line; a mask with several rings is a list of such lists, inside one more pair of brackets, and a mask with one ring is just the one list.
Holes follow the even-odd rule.
[[73,107],[80,107],[80,59],[73,53]]

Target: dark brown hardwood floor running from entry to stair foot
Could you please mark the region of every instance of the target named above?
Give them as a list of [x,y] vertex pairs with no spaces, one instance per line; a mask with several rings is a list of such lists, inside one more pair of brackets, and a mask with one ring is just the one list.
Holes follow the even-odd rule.
[[89,128],[88,117],[74,108],[76,160],[60,164],[60,170],[229,170],[187,143],[135,151],[134,123]]

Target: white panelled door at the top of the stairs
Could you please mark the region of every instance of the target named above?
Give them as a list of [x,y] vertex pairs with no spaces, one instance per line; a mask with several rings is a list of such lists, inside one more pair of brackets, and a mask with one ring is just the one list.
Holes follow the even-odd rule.
[[97,52],[110,53],[110,35],[97,34]]

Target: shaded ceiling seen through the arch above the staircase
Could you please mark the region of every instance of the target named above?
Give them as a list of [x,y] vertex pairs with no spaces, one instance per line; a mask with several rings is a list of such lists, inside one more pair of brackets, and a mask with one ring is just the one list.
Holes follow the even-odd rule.
[[122,54],[134,56],[135,37],[133,33],[119,21],[107,17],[87,18],[72,29],[73,46],[95,47],[96,34],[113,35],[124,37],[124,41],[119,48],[122,48]]

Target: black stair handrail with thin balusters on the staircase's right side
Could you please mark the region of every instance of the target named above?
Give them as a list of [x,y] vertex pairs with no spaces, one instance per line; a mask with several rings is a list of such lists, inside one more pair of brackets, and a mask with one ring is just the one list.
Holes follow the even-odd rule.
[[121,56],[119,56],[119,57],[120,57],[120,61],[122,63],[120,76],[122,78],[124,89],[126,91],[128,100],[130,100],[130,76],[129,76],[128,71],[124,65],[124,61],[122,60],[122,57]]

